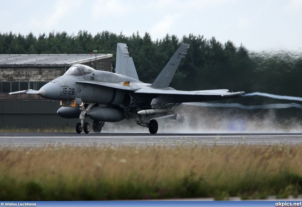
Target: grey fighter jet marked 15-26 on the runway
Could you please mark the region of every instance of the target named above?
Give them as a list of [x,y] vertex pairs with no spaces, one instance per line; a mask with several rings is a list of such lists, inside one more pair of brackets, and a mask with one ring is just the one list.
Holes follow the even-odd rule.
[[117,43],[116,73],[97,71],[89,66],[76,64],[40,90],[24,90],[9,93],[38,94],[45,99],[60,100],[57,114],[63,118],[79,118],[76,132],[89,133],[88,116],[93,121],[92,129],[100,133],[105,122],[123,119],[136,121],[148,127],[151,134],[158,130],[155,119],[144,121],[146,116],[166,114],[185,102],[207,102],[239,97],[244,92],[228,92],[227,89],[179,91],[169,87],[180,61],[185,58],[189,44],[182,44],[162,69],[152,84],[143,83],[137,76],[128,47]]

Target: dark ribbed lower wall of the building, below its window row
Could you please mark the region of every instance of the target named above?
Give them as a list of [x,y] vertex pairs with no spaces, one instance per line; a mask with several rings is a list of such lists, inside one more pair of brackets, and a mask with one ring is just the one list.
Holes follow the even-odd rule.
[[[56,114],[59,101],[0,100],[0,129],[75,128],[80,119],[65,119]],[[90,118],[85,118],[92,127]]]

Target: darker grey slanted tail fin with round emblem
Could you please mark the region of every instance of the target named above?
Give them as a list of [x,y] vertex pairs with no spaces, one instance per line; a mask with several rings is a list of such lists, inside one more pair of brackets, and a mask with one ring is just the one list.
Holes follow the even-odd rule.
[[175,52],[175,54],[172,56],[172,58],[169,60],[169,62],[166,64],[164,69],[162,69],[162,72],[158,75],[158,77],[155,79],[155,81],[152,83],[152,88],[168,88],[172,78],[178,68],[178,65],[180,61],[185,58],[187,55],[187,51],[189,49],[190,44],[183,43],[180,45],[178,50]]

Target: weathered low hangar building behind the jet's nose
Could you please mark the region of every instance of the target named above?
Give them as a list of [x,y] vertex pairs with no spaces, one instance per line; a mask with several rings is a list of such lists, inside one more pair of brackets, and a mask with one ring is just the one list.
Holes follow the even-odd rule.
[[78,120],[56,114],[59,101],[37,94],[8,93],[39,90],[74,64],[112,72],[112,54],[0,55],[0,129],[73,128]]

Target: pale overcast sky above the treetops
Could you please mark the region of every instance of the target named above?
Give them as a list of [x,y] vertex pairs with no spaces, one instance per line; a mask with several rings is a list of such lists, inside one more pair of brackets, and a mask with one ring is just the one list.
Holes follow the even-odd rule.
[[302,0],[52,0],[0,1],[0,32],[108,30],[151,38],[190,33],[242,43],[249,50],[302,51]]

